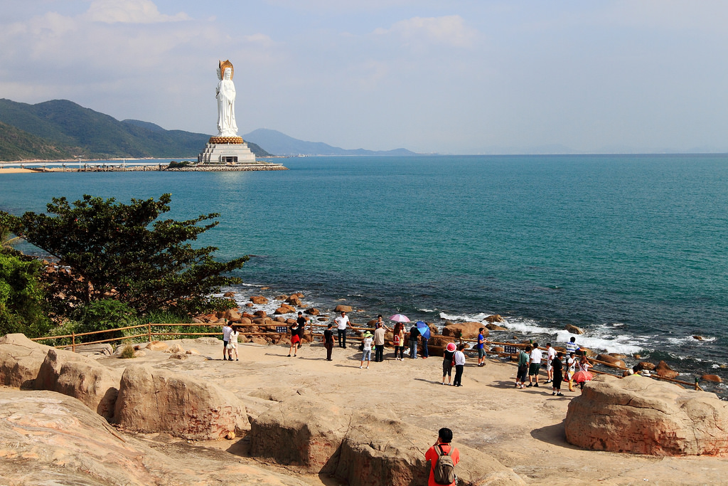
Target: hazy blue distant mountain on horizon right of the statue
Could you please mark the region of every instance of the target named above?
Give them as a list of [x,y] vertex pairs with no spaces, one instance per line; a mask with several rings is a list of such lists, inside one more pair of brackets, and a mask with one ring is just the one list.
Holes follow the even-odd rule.
[[258,128],[242,136],[246,141],[255,141],[266,150],[277,155],[416,155],[407,149],[367,150],[341,149],[323,142],[307,142],[289,137],[285,133],[267,128]]

